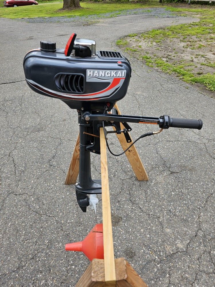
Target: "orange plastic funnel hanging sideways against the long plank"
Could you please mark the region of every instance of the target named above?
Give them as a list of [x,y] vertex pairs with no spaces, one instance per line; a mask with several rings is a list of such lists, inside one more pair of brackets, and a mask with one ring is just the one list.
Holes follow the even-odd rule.
[[93,258],[104,259],[102,223],[96,224],[83,241],[66,244],[65,250],[81,251],[90,261]]

